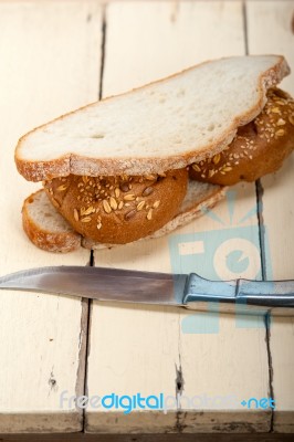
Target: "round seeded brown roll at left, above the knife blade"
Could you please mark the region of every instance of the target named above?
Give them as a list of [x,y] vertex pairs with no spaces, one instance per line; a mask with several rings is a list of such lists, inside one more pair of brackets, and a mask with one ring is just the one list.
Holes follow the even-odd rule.
[[150,235],[176,215],[186,196],[186,168],[150,176],[70,175],[44,182],[72,228],[99,243],[125,244]]

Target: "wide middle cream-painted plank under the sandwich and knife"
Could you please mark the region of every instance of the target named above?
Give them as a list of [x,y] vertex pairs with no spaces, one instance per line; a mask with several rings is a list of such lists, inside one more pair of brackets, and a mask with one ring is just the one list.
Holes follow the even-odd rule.
[[[104,96],[206,59],[244,53],[241,2],[111,3],[106,17]],[[251,269],[245,274],[256,276],[260,257],[254,186],[238,186],[235,192],[238,204],[232,219],[225,201],[214,211],[220,220],[224,220],[223,224],[206,215],[169,238],[97,251],[95,265],[162,272],[181,267],[181,271],[188,272],[191,263],[177,255],[177,241],[187,242],[193,236],[201,240],[219,236],[224,241],[237,235],[238,244],[241,244],[238,230],[241,225],[246,231],[248,243],[255,243],[252,248],[255,248],[258,256],[254,259],[253,252],[249,254]],[[232,206],[230,198],[229,207]],[[252,209],[252,217],[239,225],[239,221]],[[192,262],[193,270],[202,263],[200,273],[213,277],[216,271],[211,261],[211,255],[199,256]],[[221,277],[228,275],[225,267],[219,269],[219,272]],[[162,392],[175,397],[177,392],[182,401],[182,411],[176,407],[166,414],[162,411],[124,414],[122,409],[104,411],[90,407],[86,431],[269,430],[271,413],[246,411],[240,404],[242,399],[252,396],[267,396],[269,370],[262,322],[258,319],[255,324],[244,325],[243,318],[242,327],[240,318],[237,324],[234,316],[221,315],[220,318],[214,317],[211,324],[211,316],[204,315],[203,327],[217,326],[218,329],[187,333],[185,324],[188,316],[191,313],[179,309],[93,304],[88,396]],[[185,396],[192,398],[196,394],[214,398],[232,394],[237,399],[231,408],[203,401],[198,408],[188,407]]]

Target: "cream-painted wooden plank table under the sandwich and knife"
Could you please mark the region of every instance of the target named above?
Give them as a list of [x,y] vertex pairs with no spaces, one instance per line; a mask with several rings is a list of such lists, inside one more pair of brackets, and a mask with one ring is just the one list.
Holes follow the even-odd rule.
[[[0,1],[1,274],[91,261],[88,251],[50,254],[24,236],[22,200],[38,185],[24,181],[13,164],[23,133],[207,59],[282,53],[294,70],[293,20],[294,2],[283,0]],[[294,94],[293,74],[283,86]],[[212,239],[223,235],[239,239],[234,245],[242,249],[242,231],[253,244],[243,275],[293,278],[293,162],[260,183],[231,189],[231,218],[232,193],[214,218],[206,214],[169,238],[95,252],[95,265],[186,271],[192,255],[180,254],[178,243],[200,238],[211,251]],[[193,259],[214,276],[208,255]],[[225,266],[217,271],[228,276]],[[191,329],[193,313],[181,309],[17,292],[1,292],[0,315],[0,433],[294,432],[291,318],[264,324],[204,314],[206,328]],[[178,392],[181,403],[167,413],[81,410],[61,407],[63,391],[90,398]],[[189,407],[187,398],[195,396],[198,407]],[[233,404],[223,403],[228,396]],[[248,410],[240,402],[251,397],[272,397],[275,410]]]

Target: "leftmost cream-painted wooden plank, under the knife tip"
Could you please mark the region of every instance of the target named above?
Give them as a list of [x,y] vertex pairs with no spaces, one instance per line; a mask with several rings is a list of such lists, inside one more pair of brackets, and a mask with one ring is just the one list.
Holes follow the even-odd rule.
[[[13,149],[23,133],[97,98],[101,28],[92,1],[0,3],[1,274],[90,261],[88,251],[51,254],[25,238],[22,201],[40,185],[19,176]],[[60,394],[83,391],[86,308],[78,298],[1,291],[0,432],[82,429],[81,411],[62,409]]]

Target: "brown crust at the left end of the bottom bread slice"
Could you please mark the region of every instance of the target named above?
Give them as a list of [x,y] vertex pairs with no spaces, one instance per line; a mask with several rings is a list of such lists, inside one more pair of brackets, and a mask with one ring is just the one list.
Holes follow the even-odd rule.
[[30,204],[34,202],[35,198],[42,191],[41,189],[30,194],[23,202],[22,227],[24,232],[34,245],[46,252],[67,253],[78,250],[82,240],[78,233],[70,230],[60,232],[48,231],[31,217]]

